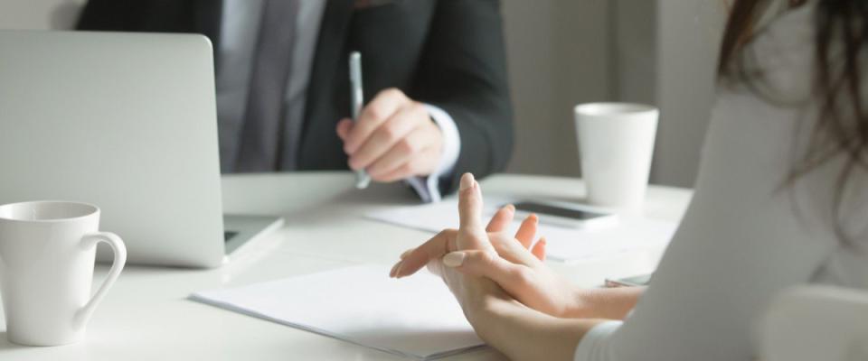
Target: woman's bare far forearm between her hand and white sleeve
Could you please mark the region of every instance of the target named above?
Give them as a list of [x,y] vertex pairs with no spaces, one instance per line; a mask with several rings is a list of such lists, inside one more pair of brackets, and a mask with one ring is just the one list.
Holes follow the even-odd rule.
[[636,307],[645,287],[577,289],[576,304],[566,314],[570,319],[624,319]]

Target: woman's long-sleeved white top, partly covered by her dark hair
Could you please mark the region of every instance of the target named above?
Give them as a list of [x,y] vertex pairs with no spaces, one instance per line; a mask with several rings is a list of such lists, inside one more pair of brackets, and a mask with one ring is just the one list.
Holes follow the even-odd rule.
[[784,14],[749,46],[761,88],[786,103],[743,85],[721,89],[693,201],[650,286],[623,323],[582,338],[576,361],[753,360],[759,320],[778,292],[805,283],[868,289],[868,171],[857,166],[844,190],[849,245],[831,216],[843,156],[787,183],[817,120],[814,14],[813,5]]

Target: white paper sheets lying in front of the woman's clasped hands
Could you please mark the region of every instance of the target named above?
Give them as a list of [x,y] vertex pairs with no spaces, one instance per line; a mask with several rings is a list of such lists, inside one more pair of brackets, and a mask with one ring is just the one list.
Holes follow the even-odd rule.
[[297,329],[430,360],[484,347],[439,277],[361,265],[190,296]]

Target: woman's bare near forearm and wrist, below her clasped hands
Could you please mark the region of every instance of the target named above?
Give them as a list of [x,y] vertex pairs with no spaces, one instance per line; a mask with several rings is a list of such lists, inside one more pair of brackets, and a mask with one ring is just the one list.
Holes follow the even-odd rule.
[[603,319],[559,319],[520,303],[493,302],[472,321],[489,346],[512,360],[572,360],[579,341]]

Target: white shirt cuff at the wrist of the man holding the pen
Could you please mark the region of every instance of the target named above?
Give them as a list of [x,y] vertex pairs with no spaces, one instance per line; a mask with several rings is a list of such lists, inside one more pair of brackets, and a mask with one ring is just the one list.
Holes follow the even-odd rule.
[[461,153],[461,137],[458,134],[455,119],[452,119],[452,116],[449,116],[445,110],[430,104],[425,104],[425,108],[428,109],[429,116],[439,126],[440,132],[443,134],[443,153],[440,156],[437,171],[425,177],[410,177],[407,179],[407,183],[419,193],[423,202],[430,203],[440,201],[440,180],[452,176],[455,164],[458,163],[458,154]]

